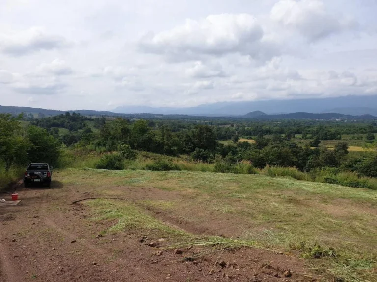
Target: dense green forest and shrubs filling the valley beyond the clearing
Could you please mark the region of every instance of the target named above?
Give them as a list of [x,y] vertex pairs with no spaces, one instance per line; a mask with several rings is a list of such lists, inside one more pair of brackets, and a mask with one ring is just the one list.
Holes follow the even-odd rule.
[[[274,166],[312,174],[326,170],[331,175],[347,171],[357,177],[377,177],[375,133],[373,120],[146,120],[69,112],[45,118],[0,114],[0,165],[5,172],[28,162],[63,166],[62,152],[85,150],[104,154],[97,167],[121,169],[137,152],[150,152],[212,164],[218,172],[239,173],[237,167],[247,164],[242,173]],[[349,154],[350,140],[372,149]],[[334,144],[328,148],[325,141]],[[159,165],[161,169],[174,168]],[[331,177],[327,181],[337,183]]]

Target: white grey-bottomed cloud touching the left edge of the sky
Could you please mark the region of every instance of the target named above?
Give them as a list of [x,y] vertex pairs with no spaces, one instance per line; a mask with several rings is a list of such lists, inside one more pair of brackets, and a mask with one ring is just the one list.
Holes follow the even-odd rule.
[[0,50],[12,56],[65,48],[69,45],[64,37],[47,34],[40,27],[31,27],[18,32],[0,33]]

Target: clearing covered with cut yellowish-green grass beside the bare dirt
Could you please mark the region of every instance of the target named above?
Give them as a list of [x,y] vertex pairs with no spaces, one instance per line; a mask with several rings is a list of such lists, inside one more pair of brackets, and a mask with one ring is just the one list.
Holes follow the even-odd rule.
[[[182,238],[175,242],[183,245],[192,245],[193,240],[197,244],[219,240],[220,245],[226,241],[228,246],[299,251],[318,271],[343,281],[377,279],[373,272],[377,191],[262,175],[190,171],[66,169],[55,178],[78,188],[90,187],[99,198],[90,204],[95,216],[98,220],[118,219],[113,227],[118,231],[152,226],[152,231]],[[154,187],[172,196],[168,200],[136,200],[135,205],[101,199],[122,197],[122,187]],[[228,239],[172,231],[143,215],[139,206],[158,208],[197,226],[211,222],[223,227]],[[323,258],[312,260],[313,256]]]

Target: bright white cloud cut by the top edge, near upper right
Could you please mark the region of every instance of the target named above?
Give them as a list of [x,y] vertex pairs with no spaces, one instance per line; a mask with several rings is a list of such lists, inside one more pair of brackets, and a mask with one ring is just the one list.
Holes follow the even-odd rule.
[[280,0],[271,10],[271,19],[296,30],[310,42],[358,27],[352,19],[330,14],[322,0]]

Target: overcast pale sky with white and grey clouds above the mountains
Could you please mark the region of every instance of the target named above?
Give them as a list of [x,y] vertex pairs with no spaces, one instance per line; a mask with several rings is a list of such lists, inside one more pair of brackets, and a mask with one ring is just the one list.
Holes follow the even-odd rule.
[[0,0],[0,105],[377,94],[377,0]]

